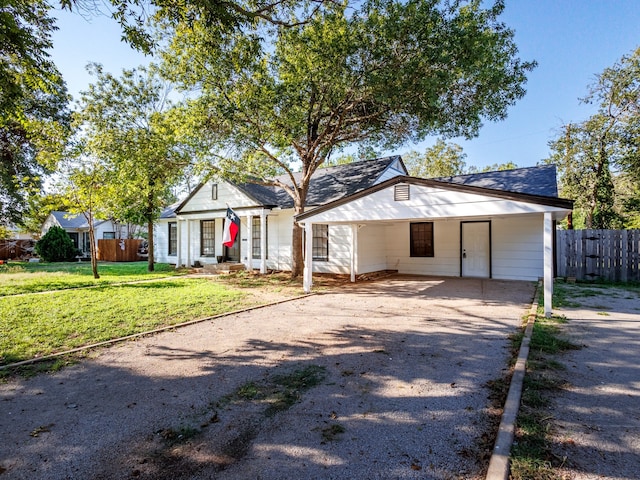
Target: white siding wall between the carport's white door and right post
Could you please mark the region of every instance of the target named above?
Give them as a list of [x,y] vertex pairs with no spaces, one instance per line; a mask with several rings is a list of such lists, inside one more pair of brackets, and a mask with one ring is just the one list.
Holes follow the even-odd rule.
[[492,276],[504,280],[542,278],[543,214],[500,217],[491,222]]

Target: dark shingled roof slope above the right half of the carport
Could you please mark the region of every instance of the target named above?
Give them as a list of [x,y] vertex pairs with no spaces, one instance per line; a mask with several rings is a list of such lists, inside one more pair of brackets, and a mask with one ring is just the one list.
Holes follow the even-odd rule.
[[541,197],[557,197],[558,183],[555,165],[540,165],[513,170],[500,170],[454,177],[432,178],[438,182],[490,188],[503,192],[526,193]]

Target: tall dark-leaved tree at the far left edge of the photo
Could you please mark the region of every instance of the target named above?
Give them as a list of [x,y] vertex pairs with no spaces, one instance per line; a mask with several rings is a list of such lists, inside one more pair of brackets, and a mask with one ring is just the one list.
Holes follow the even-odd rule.
[[0,222],[20,223],[68,133],[64,82],[49,59],[55,30],[41,0],[0,5]]

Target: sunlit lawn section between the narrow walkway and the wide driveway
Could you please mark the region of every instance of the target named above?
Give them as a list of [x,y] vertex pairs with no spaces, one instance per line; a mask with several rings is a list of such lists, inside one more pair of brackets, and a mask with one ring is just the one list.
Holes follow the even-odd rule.
[[245,297],[207,279],[176,278],[0,298],[0,364],[236,310]]

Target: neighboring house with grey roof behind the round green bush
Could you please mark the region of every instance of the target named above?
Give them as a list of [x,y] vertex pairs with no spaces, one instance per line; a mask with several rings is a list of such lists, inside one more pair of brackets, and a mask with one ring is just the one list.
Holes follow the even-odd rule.
[[[54,211],[49,214],[42,225],[44,235],[53,226],[62,227],[71,237],[73,244],[83,255],[91,255],[89,245],[89,223],[82,213],[69,213]],[[96,245],[98,240],[127,238],[127,226],[112,220],[94,220],[94,235]]]

